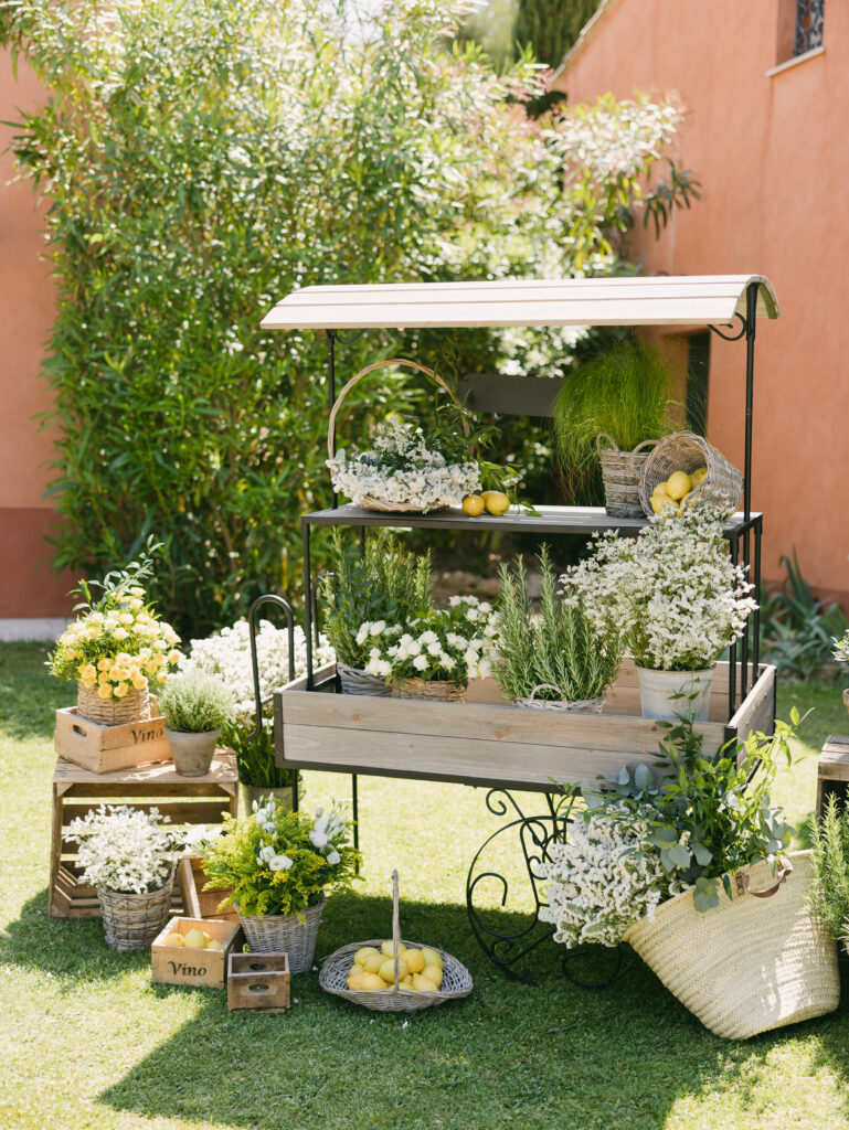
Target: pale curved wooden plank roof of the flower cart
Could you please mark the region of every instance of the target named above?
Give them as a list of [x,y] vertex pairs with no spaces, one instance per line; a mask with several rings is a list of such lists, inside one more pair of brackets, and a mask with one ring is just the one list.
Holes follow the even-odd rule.
[[512,279],[309,286],[262,319],[266,330],[415,329],[480,325],[728,325],[746,313],[757,282],[757,316],[778,318],[761,275]]

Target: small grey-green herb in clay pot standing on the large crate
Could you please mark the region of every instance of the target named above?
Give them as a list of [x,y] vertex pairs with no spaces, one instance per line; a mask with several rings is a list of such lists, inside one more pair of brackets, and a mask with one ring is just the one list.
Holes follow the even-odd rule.
[[159,696],[174,766],[181,776],[209,772],[222,727],[233,718],[233,695],[215,675],[187,671]]

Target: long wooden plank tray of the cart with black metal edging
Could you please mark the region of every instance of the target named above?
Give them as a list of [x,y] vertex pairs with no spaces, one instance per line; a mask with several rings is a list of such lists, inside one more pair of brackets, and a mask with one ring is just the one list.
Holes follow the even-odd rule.
[[[319,683],[330,689],[332,681]],[[776,669],[762,667],[729,720],[728,664],[714,671],[709,719],[695,725],[705,753],[753,730],[771,732]],[[554,791],[624,765],[652,762],[665,730],[640,714],[636,670],[623,663],[601,714],[522,710],[494,680],[469,688],[465,703],[416,702],[307,692],[295,680],[275,695],[277,763]]]

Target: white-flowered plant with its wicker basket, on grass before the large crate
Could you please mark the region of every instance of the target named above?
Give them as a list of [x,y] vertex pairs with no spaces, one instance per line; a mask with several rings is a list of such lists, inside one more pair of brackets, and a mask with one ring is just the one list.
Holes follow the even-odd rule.
[[113,949],[145,949],[167,921],[179,853],[167,819],[156,808],[101,805],[68,825],[79,844],[79,881],[96,887]]

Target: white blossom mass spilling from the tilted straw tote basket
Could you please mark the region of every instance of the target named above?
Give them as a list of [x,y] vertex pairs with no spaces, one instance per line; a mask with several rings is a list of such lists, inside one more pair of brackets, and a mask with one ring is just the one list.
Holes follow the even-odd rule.
[[650,806],[629,812],[624,806],[577,819],[566,843],[551,844],[539,871],[548,879],[548,905],[539,918],[566,946],[617,946],[638,919],[655,916],[670,894],[660,852],[647,843]]

